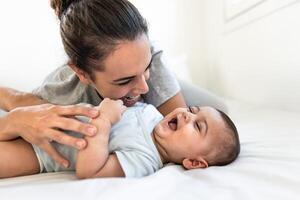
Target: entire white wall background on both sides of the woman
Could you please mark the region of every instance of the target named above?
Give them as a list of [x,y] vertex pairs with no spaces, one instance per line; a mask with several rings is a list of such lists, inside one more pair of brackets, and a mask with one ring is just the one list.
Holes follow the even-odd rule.
[[[181,78],[225,97],[300,111],[299,0],[132,2]],[[0,24],[0,85],[30,91],[66,61],[48,0],[4,1]]]

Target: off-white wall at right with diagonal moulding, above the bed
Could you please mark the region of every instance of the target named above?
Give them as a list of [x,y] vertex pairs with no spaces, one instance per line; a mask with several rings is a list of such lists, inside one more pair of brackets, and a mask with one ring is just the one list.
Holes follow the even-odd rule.
[[[235,2],[240,3],[233,7],[242,8],[247,0]],[[240,101],[300,111],[299,0],[256,2],[228,21],[219,0],[205,0],[208,88]]]

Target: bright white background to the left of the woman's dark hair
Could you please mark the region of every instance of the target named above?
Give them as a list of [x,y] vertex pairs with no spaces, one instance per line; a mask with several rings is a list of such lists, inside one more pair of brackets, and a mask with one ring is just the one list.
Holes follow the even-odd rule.
[[30,91],[63,64],[58,24],[49,1],[2,1],[0,85]]

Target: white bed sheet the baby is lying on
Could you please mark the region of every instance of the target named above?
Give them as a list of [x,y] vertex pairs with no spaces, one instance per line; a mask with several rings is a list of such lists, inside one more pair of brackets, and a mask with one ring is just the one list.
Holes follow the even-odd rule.
[[241,154],[225,167],[168,165],[141,179],[51,173],[0,180],[0,199],[300,199],[300,113],[229,102]]

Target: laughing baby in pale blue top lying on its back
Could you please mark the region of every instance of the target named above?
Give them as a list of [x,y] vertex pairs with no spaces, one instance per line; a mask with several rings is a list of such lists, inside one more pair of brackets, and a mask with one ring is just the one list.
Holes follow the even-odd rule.
[[[233,122],[214,108],[178,108],[165,118],[155,107],[144,103],[125,109],[120,100],[104,99],[98,118],[81,118],[98,127],[95,136],[85,136],[88,146],[81,151],[54,143],[70,160],[69,168],[55,163],[37,146],[33,146],[34,151],[28,145],[26,148],[31,151],[25,146],[18,150],[28,151],[28,157],[35,162],[31,172],[75,170],[78,178],[143,177],[169,162],[182,164],[186,169],[221,166],[239,154],[239,137]],[[0,149],[2,145],[0,142]],[[0,164],[0,177],[12,176],[3,174],[2,168]],[[13,168],[18,170],[17,166]]]

